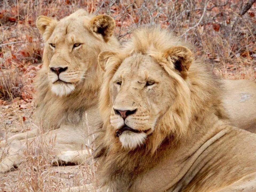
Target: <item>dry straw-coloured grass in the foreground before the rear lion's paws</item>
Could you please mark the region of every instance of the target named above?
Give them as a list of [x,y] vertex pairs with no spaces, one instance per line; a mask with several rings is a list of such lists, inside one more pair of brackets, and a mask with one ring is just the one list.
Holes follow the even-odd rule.
[[[47,140],[42,134],[34,141],[27,142],[21,149],[24,155],[18,171],[14,175],[13,172],[9,173],[13,178],[0,182],[0,191],[61,191],[63,188],[83,186],[94,181],[94,163],[85,161],[78,166],[52,166],[52,162],[56,162],[54,145],[54,138]],[[9,147],[11,145],[0,149],[0,160],[8,154]],[[16,182],[14,178],[17,178]]]

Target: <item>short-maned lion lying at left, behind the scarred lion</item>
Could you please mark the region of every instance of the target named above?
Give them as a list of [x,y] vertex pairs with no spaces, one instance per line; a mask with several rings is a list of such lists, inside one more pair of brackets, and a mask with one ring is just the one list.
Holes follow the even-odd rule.
[[[88,154],[88,135],[101,122],[97,93],[103,71],[97,58],[102,50],[119,46],[112,36],[115,21],[108,15],[95,16],[78,10],[60,21],[39,16],[37,27],[45,47],[43,66],[35,83],[35,119],[45,133],[43,141],[49,144],[54,140],[51,145],[55,145],[58,161],[80,163]],[[11,145],[0,163],[1,172],[21,163],[23,144],[27,138],[28,143],[37,140],[37,134],[35,129],[7,139]]]

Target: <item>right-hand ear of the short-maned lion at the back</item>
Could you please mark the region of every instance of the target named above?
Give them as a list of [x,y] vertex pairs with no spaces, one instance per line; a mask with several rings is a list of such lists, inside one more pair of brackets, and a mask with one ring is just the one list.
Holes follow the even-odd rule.
[[109,15],[98,15],[91,19],[90,30],[101,34],[105,41],[113,35],[115,29],[115,20]]

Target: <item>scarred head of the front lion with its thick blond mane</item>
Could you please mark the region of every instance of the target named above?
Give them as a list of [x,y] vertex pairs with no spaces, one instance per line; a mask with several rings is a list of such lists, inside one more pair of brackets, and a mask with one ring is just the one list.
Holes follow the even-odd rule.
[[[208,102],[208,91],[216,92],[211,90],[215,86],[209,88],[216,82],[208,72],[195,75],[205,67],[194,60],[190,46],[169,31],[150,27],[133,35],[119,52],[103,51],[98,57],[106,71],[100,107],[112,143],[128,150],[145,144],[155,151],[166,137],[189,136],[190,121],[197,118],[202,101]],[[198,87],[208,90],[191,88],[194,78]]]

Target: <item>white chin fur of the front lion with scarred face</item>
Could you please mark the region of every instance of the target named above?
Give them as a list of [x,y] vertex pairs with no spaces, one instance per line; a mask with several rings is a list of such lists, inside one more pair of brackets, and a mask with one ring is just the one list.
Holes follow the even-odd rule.
[[133,133],[131,131],[125,131],[119,136],[119,140],[124,148],[132,150],[143,144],[146,137],[146,133]]

